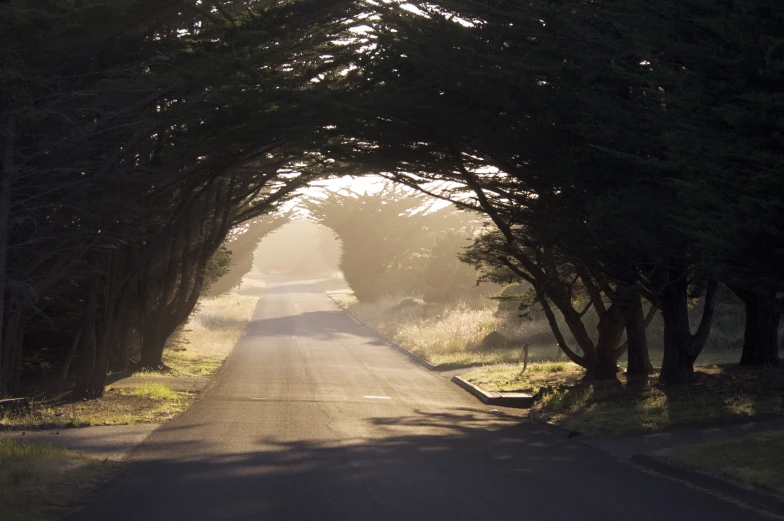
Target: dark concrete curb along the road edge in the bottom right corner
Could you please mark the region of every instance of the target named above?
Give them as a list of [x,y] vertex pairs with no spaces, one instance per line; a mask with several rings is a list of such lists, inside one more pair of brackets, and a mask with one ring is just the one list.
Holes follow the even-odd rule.
[[755,510],[763,510],[773,515],[784,517],[784,500],[776,496],[736,485],[731,481],[711,474],[678,467],[655,456],[635,454],[629,461],[633,465],[656,472],[657,474],[661,474],[668,478],[684,481],[697,488],[729,497],[735,501],[744,503]]

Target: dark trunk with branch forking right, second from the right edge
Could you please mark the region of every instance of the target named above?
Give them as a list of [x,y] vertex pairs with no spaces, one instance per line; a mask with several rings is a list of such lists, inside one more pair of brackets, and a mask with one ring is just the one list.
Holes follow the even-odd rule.
[[664,358],[659,381],[664,385],[684,384],[691,378],[689,367],[688,283],[674,280],[661,297],[661,312],[664,320]]

